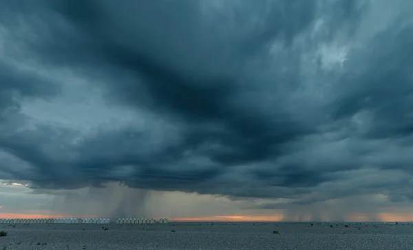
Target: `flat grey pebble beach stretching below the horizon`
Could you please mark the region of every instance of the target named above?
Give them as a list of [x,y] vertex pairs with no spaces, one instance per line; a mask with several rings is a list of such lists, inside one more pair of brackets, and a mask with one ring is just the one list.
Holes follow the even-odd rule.
[[[8,236],[0,237],[0,250],[413,249],[413,223],[314,223],[313,227],[310,223],[111,223],[0,225],[1,230],[8,231]],[[275,230],[279,234],[273,234]]]

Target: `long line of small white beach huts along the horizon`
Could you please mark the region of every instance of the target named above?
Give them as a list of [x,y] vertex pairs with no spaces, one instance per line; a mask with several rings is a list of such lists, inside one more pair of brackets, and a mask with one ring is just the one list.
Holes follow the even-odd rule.
[[[0,218],[0,224],[109,224],[109,218],[32,218],[32,219],[6,219]],[[118,224],[155,224],[153,218],[118,218]],[[160,218],[159,224],[167,224],[167,218]]]

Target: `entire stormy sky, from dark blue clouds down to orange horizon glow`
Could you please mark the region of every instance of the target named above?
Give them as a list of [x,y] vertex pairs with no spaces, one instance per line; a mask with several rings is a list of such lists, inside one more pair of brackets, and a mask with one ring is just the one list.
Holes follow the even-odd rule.
[[0,0],[0,215],[413,220],[412,48],[411,0]]

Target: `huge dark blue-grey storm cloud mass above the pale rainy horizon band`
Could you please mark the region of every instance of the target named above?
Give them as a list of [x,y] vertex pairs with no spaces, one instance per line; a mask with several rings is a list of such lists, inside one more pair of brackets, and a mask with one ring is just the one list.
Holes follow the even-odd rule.
[[[13,131],[7,117],[13,133],[0,133],[0,150],[30,168],[0,163],[0,178],[50,189],[123,181],[296,205],[411,198],[409,1],[396,1],[387,23],[374,21],[386,11],[380,1],[23,3],[5,9],[24,29],[1,20],[11,32],[28,30],[12,38],[30,58],[96,80],[107,106],[162,117],[169,137],[155,143],[156,123],[131,124],[73,143],[75,128]],[[337,53],[346,60],[331,59]],[[21,102],[12,93],[60,96],[59,84],[7,69],[0,80],[0,112]]]

